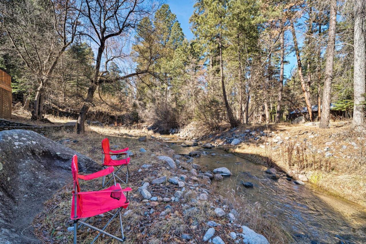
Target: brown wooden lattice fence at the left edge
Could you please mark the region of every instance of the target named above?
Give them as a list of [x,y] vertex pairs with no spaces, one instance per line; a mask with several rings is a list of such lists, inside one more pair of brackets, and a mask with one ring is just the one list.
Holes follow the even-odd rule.
[[0,70],[0,118],[11,118],[11,76]]

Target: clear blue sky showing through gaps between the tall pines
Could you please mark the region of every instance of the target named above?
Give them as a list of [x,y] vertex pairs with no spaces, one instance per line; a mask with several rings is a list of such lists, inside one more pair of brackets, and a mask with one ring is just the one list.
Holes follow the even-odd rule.
[[[180,27],[184,34],[186,35],[187,39],[192,39],[193,34],[190,30],[189,18],[193,13],[193,5],[194,0],[167,0],[167,4],[169,4],[170,10],[177,16],[177,19],[180,23]],[[302,38],[300,38],[299,33],[296,34],[299,41],[299,47],[302,46]],[[292,41],[292,37],[290,33],[287,33],[286,37]],[[290,77],[291,70],[296,68],[296,57],[295,53],[289,53],[285,60],[289,63],[284,67],[284,76],[285,78]]]

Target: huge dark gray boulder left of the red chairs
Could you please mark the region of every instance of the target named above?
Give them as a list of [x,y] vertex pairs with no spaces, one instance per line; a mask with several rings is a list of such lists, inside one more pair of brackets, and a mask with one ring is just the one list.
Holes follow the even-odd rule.
[[72,182],[74,154],[78,155],[79,172],[101,169],[91,158],[37,132],[0,132],[0,243],[40,243],[31,222],[46,200]]

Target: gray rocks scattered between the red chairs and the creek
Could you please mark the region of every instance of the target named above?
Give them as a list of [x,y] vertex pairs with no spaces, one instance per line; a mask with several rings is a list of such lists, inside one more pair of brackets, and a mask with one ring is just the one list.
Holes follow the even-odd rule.
[[[199,152],[196,151],[191,155],[199,155]],[[238,212],[225,205],[224,197],[215,195],[215,192],[210,189],[209,186],[213,180],[222,180],[223,176],[231,175],[229,169],[221,167],[214,169],[212,172],[203,172],[200,165],[183,162],[181,155],[173,155],[173,158],[157,156],[157,159],[165,163],[165,165],[160,164],[160,166],[169,169],[172,175],[169,177],[166,175],[150,177],[150,180],[144,180],[141,186],[138,187],[141,202],[147,206],[143,215],[146,217],[154,215],[164,220],[164,218],[169,218],[171,213],[178,211],[181,212],[184,219],[187,219],[199,214],[202,211],[200,209],[201,203],[207,202],[210,211],[214,213],[215,218],[221,224],[206,219],[203,226],[208,228],[203,227],[201,235],[197,232],[194,234],[182,233],[180,235],[181,239],[214,244],[268,243],[261,234],[254,232],[247,226],[236,224],[239,216]],[[179,161],[179,164],[177,161]],[[150,172],[153,169],[154,167],[150,165],[147,168],[145,167],[144,170]],[[154,175],[154,173],[152,174]],[[193,225],[199,226],[199,222],[194,220]],[[223,232],[227,233],[226,239],[222,236]]]

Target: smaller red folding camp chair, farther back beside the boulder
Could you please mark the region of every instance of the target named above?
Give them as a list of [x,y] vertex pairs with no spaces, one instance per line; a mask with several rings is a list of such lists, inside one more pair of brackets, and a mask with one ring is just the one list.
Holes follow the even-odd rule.
[[[111,155],[125,155],[124,159],[121,160],[117,160],[117,159],[112,159]],[[129,176],[129,172],[128,172],[128,164],[130,163],[130,157],[128,157],[128,147],[122,149],[122,150],[117,150],[117,151],[113,151],[109,148],[109,140],[108,138],[104,138],[102,140],[102,165],[104,168],[107,168],[108,166],[115,166],[117,168],[117,171],[114,173],[115,177],[118,178],[121,182],[123,182],[124,184],[127,184],[128,182],[128,176]],[[126,165],[127,167],[127,172],[123,172],[122,168]],[[122,180],[120,177],[117,176],[117,174],[119,172],[122,172],[126,175],[126,182],[124,180]],[[109,177],[109,175],[107,176],[108,179],[111,178]],[[105,176],[103,176],[103,180],[102,180],[102,186],[104,187],[105,185],[108,185],[109,182],[111,182],[113,178],[109,179],[109,181],[107,183],[105,183]]]

